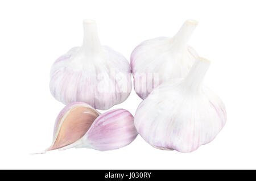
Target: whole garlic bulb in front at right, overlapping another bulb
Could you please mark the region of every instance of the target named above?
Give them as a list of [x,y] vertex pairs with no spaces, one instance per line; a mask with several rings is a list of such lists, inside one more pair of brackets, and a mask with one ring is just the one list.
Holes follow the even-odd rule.
[[135,127],[148,144],[190,152],[221,131],[226,123],[225,106],[202,85],[209,64],[198,58],[186,78],[162,83],[139,104]]

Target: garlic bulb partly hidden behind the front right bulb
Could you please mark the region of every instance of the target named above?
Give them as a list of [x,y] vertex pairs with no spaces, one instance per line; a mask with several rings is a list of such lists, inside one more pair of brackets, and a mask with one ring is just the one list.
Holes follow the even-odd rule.
[[152,89],[170,78],[187,75],[198,57],[187,45],[196,26],[196,20],[187,20],[174,37],[146,40],[133,50],[130,65],[139,97],[145,99]]

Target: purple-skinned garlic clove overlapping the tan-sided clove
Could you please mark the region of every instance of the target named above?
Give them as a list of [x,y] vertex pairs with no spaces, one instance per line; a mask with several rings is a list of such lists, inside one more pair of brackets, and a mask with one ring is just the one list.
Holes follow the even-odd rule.
[[76,148],[113,150],[129,145],[138,135],[134,127],[134,117],[129,111],[117,109],[102,113],[91,129],[82,138],[86,144]]

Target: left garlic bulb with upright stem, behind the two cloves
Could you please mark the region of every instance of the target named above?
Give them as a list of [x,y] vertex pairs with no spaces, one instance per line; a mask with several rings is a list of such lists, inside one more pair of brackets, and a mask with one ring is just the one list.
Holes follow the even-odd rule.
[[50,90],[64,104],[86,102],[108,110],[127,99],[131,68],[122,54],[101,46],[94,20],[84,20],[84,43],[58,58],[51,68]]

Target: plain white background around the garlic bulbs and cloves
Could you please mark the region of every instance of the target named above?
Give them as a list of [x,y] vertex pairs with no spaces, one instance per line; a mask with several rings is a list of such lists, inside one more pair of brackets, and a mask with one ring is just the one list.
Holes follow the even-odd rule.
[[[1,1],[0,169],[256,169],[255,6],[245,0]],[[49,92],[49,69],[81,45],[83,19],[95,19],[102,45],[127,60],[141,41],[171,37],[186,19],[198,20],[189,44],[212,61],[205,83],[226,105],[224,129],[186,154],[154,149],[138,136],[119,150],[30,155],[51,144],[64,104]],[[134,115],[140,102],[133,90],[113,108]]]

